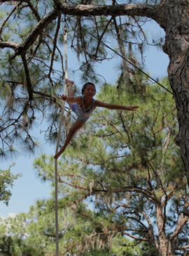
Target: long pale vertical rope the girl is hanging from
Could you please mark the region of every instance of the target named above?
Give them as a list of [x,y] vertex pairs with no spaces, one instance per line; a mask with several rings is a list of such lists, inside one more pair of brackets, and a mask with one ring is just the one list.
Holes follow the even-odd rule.
[[[68,65],[67,65],[67,29],[64,26],[64,52],[65,52],[65,78],[68,78]],[[66,84],[64,86],[64,95],[66,95]],[[62,120],[64,115],[65,101],[62,101],[62,108],[59,120],[59,129],[57,134],[56,153],[59,148],[60,134],[62,129]],[[56,256],[59,256],[59,227],[58,227],[58,172],[57,172],[57,159],[55,159],[55,225],[56,225]]]

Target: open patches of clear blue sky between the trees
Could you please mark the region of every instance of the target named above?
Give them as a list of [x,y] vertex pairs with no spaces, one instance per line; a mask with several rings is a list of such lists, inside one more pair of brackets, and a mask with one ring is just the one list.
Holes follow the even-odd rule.
[[[151,25],[148,26],[151,26],[151,33],[160,33],[159,26],[155,25],[155,23],[151,23]],[[163,34],[163,32],[161,33]],[[144,56],[146,56],[146,72],[159,80],[167,76],[167,65],[169,63],[169,59],[165,53],[161,50],[155,49],[154,47],[148,46]],[[78,60],[74,60],[70,51],[68,53],[68,58],[69,78],[73,80],[75,79],[75,82],[78,84],[78,77],[71,77],[71,70],[78,68]],[[109,60],[99,64],[97,73],[103,75],[106,78],[106,82],[115,82],[118,77],[118,73],[116,72],[116,63],[118,63],[118,60]],[[54,155],[55,146],[45,143],[42,137],[43,134],[40,134],[39,129],[43,128],[39,127],[36,129],[36,131],[34,131],[34,135],[40,143],[41,153],[43,152]],[[15,159],[1,162],[0,169],[7,169],[12,162],[15,162],[15,166],[12,167],[11,170],[13,174],[21,173],[22,177],[15,181],[14,186],[11,189],[13,196],[10,198],[8,207],[4,203],[0,202],[0,217],[13,217],[15,214],[20,212],[28,212],[29,207],[34,205],[37,199],[50,197],[50,191],[52,188],[49,184],[38,179],[36,170],[34,170],[33,162],[36,157],[38,157],[38,155],[31,155],[29,158],[29,156],[21,155],[20,153],[20,155]]]

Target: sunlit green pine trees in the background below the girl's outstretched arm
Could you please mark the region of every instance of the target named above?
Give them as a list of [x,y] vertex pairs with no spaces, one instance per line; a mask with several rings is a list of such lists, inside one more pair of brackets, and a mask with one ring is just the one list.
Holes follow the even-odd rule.
[[[163,84],[169,87],[167,80]],[[97,98],[139,109],[98,109],[58,160],[62,255],[158,256],[160,225],[169,243],[178,219],[183,226],[174,243],[187,243],[188,222],[182,214],[186,177],[174,143],[179,128],[173,98],[156,85],[148,87],[143,98],[117,92],[105,84]],[[52,156],[41,155],[34,167],[54,186]],[[54,203],[38,200],[25,216],[27,221],[18,215],[12,238],[20,237],[19,223],[24,223],[27,236],[22,246],[54,255]]]

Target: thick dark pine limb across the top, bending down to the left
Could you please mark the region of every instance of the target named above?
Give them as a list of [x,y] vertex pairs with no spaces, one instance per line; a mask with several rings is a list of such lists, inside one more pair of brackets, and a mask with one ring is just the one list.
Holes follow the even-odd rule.
[[[0,1],[3,3],[6,1]],[[19,1],[20,2],[20,1]],[[28,1],[26,1],[28,3]],[[150,6],[150,5],[143,5],[143,4],[120,4],[115,6],[98,6],[98,5],[78,5],[78,4],[65,4],[62,3],[61,0],[54,0],[55,5],[57,8],[55,10],[50,11],[48,15],[45,15],[44,18],[41,20],[38,16],[38,13],[34,11],[34,8],[29,5],[31,10],[36,15],[38,23],[31,31],[27,39],[20,45],[15,51],[12,59],[18,55],[23,55],[26,53],[29,46],[34,44],[34,41],[38,37],[38,34],[41,34],[43,29],[47,27],[52,20],[55,20],[59,13],[69,14],[69,15],[78,15],[78,16],[89,16],[89,15],[111,15],[111,16],[118,16],[118,15],[141,15],[147,16],[149,18],[155,18],[156,8],[160,8],[160,6]]]

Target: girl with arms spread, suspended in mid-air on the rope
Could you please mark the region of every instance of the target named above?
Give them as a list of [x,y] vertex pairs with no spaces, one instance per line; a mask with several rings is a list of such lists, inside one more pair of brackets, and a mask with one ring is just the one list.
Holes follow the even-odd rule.
[[60,98],[62,98],[63,101],[66,101],[69,103],[69,106],[73,112],[76,113],[78,116],[78,119],[76,122],[73,123],[71,129],[69,130],[69,134],[66,137],[66,141],[64,142],[64,146],[62,146],[59,150],[59,152],[54,156],[55,159],[59,158],[59,155],[61,155],[65,149],[66,146],[68,146],[69,142],[73,138],[74,134],[83,127],[85,122],[89,119],[91,113],[94,111],[95,108],[101,107],[101,108],[109,108],[109,109],[116,109],[116,110],[136,110],[139,107],[125,107],[124,105],[116,105],[116,104],[109,104],[104,103],[102,101],[95,101],[93,99],[93,96],[96,94],[96,88],[94,84],[91,82],[87,82],[83,85],[82,88],[82,96],[75,97],[74,92],[72,89],[74,82],[66,79],[66,86],[68,87],[68,97],[62,94]]

